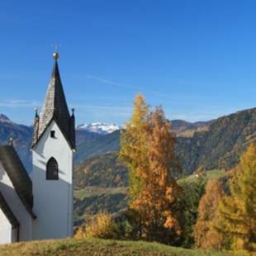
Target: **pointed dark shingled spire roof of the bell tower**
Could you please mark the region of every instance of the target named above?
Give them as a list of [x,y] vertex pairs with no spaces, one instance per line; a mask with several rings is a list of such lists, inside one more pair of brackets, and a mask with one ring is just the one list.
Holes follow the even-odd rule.
[[52,71],[50,84],[46,92],[45,102],[40,113],[40,117],[35,118],[33,144],[36,145],[40,136],[44,134],[50,122],[55,120],[59,129],[64,134],[70,147],[75,149],[74,122],[72,116],[69,115],[64,89],[59,75],[58,62],[55,60]]

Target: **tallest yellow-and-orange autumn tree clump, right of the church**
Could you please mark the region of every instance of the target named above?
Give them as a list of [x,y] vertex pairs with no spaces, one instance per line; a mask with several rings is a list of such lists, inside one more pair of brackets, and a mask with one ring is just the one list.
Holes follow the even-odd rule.
[[139,216],[140,237],[170,244],[181,232],[175,209],[181,188],[174,177],[182,170],[174,154],[175,135],[160,107],[149,113],[141,95],[134,107],[121,134],[120,152],[130,171],[129,207]]

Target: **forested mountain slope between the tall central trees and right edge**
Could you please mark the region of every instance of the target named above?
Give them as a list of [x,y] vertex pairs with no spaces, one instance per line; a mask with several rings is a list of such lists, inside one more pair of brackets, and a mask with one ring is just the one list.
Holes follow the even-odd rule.
[[256,108],[214,121],[208,130],[191,138],[178,138],[177,154],[186,173],[198,168],[229,169],[239,160],[245,145],[255,140]]

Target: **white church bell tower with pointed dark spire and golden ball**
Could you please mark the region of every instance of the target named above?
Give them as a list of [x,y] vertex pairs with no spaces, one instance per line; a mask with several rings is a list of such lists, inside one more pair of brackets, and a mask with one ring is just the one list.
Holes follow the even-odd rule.
[[64,96],[54,54],[54,67],[40,116],[36,110],[31,146],[34,206],[33,239],[58,239],[73,235],[74,113]]

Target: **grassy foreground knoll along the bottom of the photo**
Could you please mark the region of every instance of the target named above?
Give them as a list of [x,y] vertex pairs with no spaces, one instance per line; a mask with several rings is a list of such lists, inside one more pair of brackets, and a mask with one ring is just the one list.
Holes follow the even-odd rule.
[[157,243],[117,241],[107,239],[59,239],[3,245],[0,246],[0,255],[228,256],[231,254],[181,249]]

